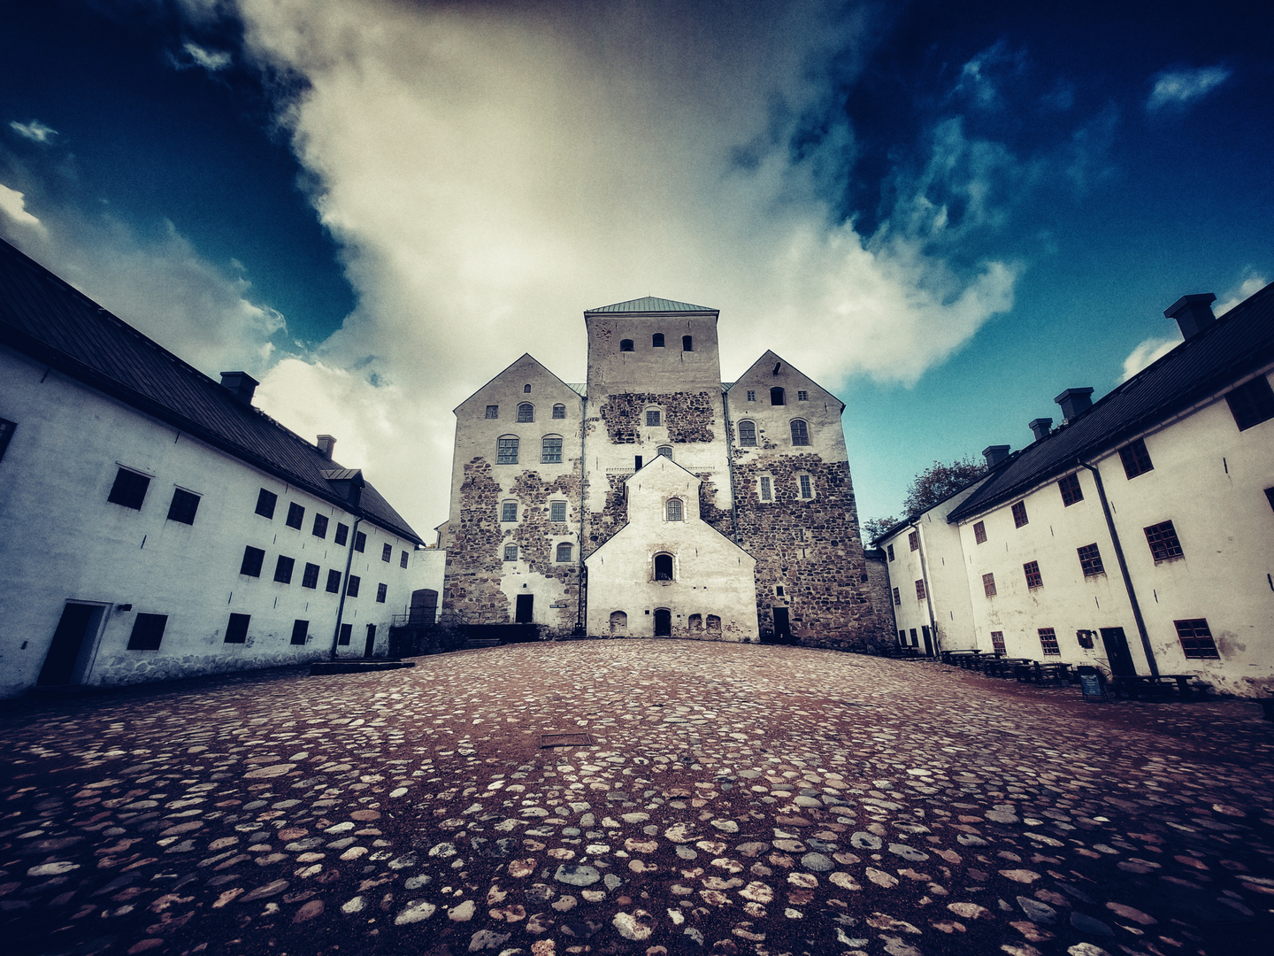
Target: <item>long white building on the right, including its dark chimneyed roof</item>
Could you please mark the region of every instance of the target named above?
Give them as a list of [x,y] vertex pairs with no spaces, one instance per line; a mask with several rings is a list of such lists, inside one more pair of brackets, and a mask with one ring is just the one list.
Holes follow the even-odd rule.
[[[1094,404],[1068,389],[1061,427],[1033,421],[1034,442],[916,516],[930,570],[964,566],[930,589],[953,611],[934,616],[941,648],[1274,687],[1274,286],[1219,320],[1214,298],[1178,300],[1182,344]],[[879,540],[896,612],[910,526]]]

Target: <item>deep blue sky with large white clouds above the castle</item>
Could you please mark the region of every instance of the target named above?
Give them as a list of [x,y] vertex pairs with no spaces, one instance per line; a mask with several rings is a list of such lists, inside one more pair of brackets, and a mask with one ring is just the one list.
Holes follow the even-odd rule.
[[[1115,9],[1111,9],[1115,8]],[[1274,279],[1251,4],[5,4],[0,235],[427,533],[450,409],[583,308],[837,391],[860,514]]]

